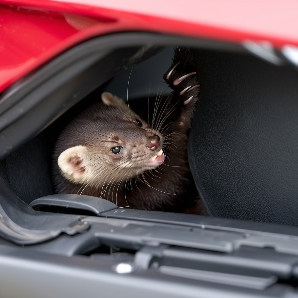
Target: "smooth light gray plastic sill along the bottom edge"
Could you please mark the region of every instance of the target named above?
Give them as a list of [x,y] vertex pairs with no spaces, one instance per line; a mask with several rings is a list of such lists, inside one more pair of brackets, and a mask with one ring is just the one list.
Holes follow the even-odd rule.
[[[288,285],[263,291],[135,269],[119,274],[113,263],[0,246],[1,297],[297,297]],[[16,286],[17,282],[17,286]]]

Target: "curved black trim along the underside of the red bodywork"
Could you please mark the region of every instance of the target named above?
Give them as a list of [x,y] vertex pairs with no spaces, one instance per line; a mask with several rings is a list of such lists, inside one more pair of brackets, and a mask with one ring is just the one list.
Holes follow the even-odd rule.
[[155,33],[117,33],[86,41],[53,59],[0,97],[0,159],[98,86],[160,47],[175,44],[245,52],[237,44]]

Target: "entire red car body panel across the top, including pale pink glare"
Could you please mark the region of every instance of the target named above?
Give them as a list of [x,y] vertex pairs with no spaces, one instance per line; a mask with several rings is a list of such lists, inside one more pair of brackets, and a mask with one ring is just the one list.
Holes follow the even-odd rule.
[[298,46],[297,1],[75,2],[0,0],[0,92],[75,44],[113,32]]

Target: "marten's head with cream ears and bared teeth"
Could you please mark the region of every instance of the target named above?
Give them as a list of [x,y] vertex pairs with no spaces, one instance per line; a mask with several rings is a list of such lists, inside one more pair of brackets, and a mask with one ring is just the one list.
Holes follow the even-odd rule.
[[102,94],[64,129],[54,158],[64,178],[93,187],[126,181],[164,161],[163,137],[123,100]]

